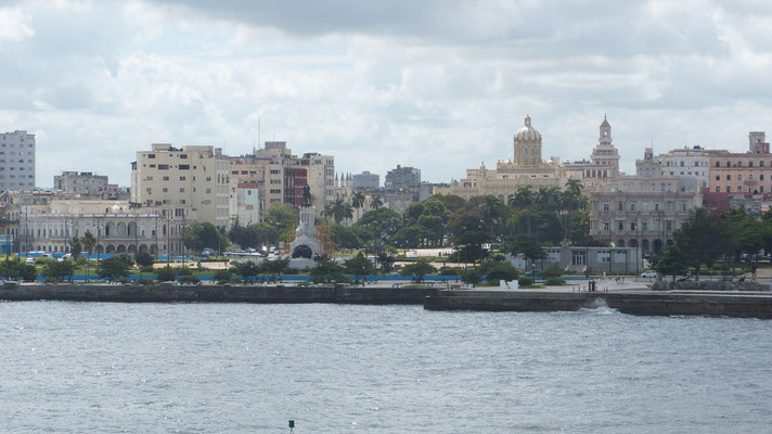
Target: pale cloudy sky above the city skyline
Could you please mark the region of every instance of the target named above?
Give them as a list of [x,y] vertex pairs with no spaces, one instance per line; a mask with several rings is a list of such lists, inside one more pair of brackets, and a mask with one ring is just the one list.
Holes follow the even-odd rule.
[[772,135],[769,1],[0,0],[0,131],[36,135],[41,188],[266,140],[449,182],[511,159],[526,115],[564,161],[607,115],[627,173]]

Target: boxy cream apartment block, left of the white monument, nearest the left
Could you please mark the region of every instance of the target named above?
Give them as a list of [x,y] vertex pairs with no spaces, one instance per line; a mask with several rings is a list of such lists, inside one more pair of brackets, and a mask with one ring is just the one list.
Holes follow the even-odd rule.
[[228,169],[219,148],[154,143],[131,163],[131,202],[173,209],[175,218],[229,227]]

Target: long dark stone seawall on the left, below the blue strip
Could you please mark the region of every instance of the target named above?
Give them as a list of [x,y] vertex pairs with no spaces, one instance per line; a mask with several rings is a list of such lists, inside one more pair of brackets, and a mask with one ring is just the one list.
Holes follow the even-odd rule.
[[0,299],[116,303],[342,303],[421,305],[434,288],[5,284]]

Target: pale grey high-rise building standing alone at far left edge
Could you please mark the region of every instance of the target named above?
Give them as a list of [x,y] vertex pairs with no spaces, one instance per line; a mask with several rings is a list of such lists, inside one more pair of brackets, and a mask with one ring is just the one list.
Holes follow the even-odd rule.
[[35,190],[35,135],[0,135],[0,191],[5,190]]

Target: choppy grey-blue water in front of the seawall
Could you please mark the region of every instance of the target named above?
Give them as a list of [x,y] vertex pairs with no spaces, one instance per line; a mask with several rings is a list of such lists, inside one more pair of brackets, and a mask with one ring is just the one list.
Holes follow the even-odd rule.
[[772,321],[0,303],[2,433],[761,433]]

